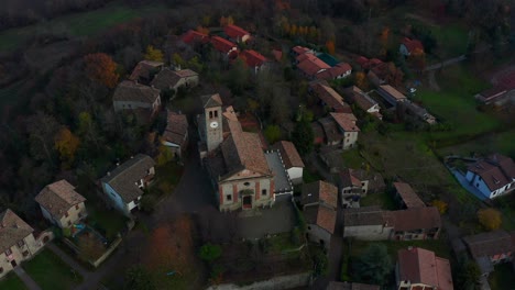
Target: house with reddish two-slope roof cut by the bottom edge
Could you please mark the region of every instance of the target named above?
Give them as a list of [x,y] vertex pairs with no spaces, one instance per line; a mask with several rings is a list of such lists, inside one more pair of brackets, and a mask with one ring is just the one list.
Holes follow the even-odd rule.
[[397,255],[395,280],[398,290],[454,289],[448,259],[419,247],[399,249]]

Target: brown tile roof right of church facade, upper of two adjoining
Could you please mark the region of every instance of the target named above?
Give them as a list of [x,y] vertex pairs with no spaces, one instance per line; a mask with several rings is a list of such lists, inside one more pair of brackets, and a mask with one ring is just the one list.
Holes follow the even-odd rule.
[[300,204],[321,202],[333,209],[338,207],[338,188],[327,181],[303,185],[302,191]]

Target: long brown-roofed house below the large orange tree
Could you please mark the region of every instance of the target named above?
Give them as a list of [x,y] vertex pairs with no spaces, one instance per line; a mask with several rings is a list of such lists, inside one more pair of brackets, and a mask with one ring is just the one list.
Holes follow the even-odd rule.
[[120,82],[112,96],[114,112],[133,111],[143,115],[147,122],[161,107],[160,90],[131,80]]

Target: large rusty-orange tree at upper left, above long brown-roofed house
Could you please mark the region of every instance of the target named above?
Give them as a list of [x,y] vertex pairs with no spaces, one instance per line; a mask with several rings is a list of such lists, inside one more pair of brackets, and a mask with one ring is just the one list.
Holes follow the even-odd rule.
[[100,82],[108,88],[114,88],[118,83],[117,63],[103,53],[88,54],[84,57],[86,75],[92,81]]

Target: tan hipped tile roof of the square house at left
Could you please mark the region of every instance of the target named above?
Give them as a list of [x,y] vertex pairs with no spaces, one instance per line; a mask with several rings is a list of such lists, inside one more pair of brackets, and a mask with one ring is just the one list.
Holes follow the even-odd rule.
[[74,186],[63,179],[43,188],[35,197],[35,201],[59,220],[70,208],[86,199],[75,191]]

